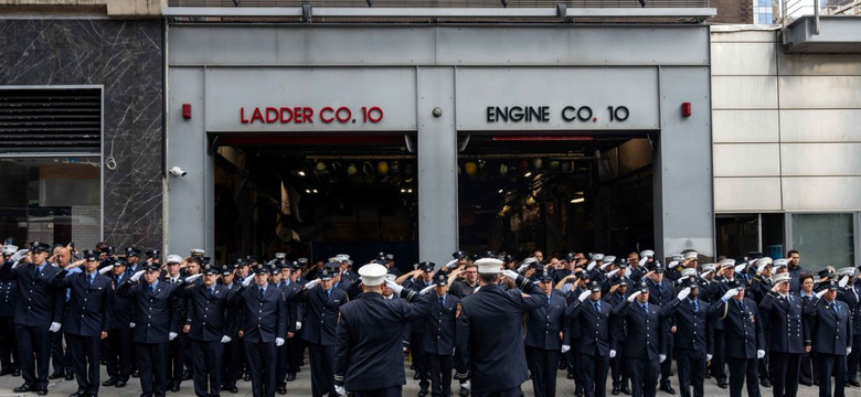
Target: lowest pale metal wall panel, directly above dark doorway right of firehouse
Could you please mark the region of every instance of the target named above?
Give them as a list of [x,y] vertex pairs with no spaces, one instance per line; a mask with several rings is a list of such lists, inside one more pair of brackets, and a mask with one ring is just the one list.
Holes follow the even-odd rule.
[[780,179],[715,178],[714,212],[782,211]]

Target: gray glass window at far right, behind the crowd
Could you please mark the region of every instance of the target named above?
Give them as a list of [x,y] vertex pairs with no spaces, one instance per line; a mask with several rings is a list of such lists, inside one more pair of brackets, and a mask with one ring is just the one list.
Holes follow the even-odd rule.
[[854,266],[852,214],[793,214],[793,249],[801,267],[818,271]]

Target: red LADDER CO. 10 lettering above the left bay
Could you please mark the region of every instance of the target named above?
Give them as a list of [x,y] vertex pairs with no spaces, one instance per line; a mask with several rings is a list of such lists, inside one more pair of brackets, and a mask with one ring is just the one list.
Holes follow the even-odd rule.
[[378,124],[383,120],[383,109],[379,106],[362,106],[358,111],[346,106],[323,106],[319,110],[308,106],[240,108],[240,122],[245,125],[312,124],[315,120],[322,124]]

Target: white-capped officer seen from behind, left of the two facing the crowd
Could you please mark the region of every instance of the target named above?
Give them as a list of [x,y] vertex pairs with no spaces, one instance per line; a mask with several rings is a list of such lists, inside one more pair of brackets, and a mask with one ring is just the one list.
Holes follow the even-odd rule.
[[[375,287],[383,282],[386,269],[382,265],[370,264],[362,266],[359,272],[368,287]],[[309,292],[315,289],[319,288]],[[401,396],[405,384],[404,355],[397,341],[411,321],[428,315],[433,301],[428,298],[436,296],[428,293],[422,297],[402,288],[400,297],[403,299],[384,299],[382,293],[365,292],[340,305],[336,385],[355,397]],[[448,373],[450,377],[450,368]]]

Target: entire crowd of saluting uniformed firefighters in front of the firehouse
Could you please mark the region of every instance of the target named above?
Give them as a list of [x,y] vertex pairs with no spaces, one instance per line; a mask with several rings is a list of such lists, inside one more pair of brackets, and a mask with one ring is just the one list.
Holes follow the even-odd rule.
[[685,250],[666,266],[651,250],[457,251],[404,273],[382,253],[355,266],[280,253],[214,264],[196,249],[162,259],[33,242],[2,256],[0,376],[23,377],[15,393],[65,378],[71,397],[91,397],[138,378],[147,397],[183,380],[196,396],[238,393],[238,380],[285,395],[306,353],[311,395],[331,397],[401,396],[405,355],[419,397],[515,397],[525,382],[541,397],[557,384],[577,397],[700,397],[706,379],[730,396],[861,387],[861,276],[811,275],[795,250],[713,264]]

